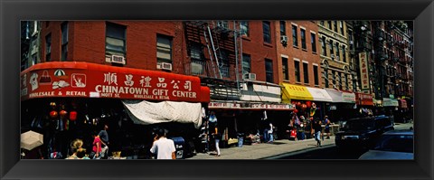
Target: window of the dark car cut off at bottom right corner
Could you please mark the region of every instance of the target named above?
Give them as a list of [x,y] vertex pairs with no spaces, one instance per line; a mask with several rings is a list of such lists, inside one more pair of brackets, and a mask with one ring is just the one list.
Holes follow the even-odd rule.
[[382,151],[413,153],[412,135],[383,135],[373,148]]

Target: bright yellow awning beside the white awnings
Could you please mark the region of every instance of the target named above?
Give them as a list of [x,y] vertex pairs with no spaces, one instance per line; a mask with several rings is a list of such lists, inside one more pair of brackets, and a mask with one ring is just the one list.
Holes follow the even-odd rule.
[[292,85],[288,83],[282,83],[284,90],[282,90],[282,102],[290,103],[291,99],[300,100],[313,100],[312,94],[305,86]]

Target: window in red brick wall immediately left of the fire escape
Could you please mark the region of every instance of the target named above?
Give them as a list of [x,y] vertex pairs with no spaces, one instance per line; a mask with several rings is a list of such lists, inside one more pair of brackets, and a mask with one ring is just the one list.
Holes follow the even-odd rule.
[[172,37],[156,35],[156,60],[172,63]]

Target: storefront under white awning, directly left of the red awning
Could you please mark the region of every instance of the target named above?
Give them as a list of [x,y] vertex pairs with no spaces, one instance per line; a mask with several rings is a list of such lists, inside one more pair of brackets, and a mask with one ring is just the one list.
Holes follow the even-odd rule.
[[329,117],[332,121],[342,121],[356,116],[355,94],[341,90],[325,89],[332,98],[330,103]]

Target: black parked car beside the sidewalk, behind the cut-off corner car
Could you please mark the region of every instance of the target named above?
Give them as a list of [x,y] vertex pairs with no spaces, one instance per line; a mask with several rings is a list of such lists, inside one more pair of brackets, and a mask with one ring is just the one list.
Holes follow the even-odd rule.
[[335,144],[340,149],[368,149],[375,145],[382,133],[393,129],[392,119],[386,116],[351,118],[336,133]]

